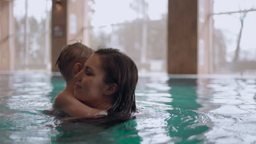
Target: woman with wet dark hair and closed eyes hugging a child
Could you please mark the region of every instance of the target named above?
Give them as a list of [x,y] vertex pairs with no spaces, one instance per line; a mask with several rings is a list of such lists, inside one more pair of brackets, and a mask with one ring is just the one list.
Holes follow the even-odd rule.
[[75,75],[74,97],[95,109],[101,117],[73,118],[72,122],[112,125],[134,118],[138,70],[132,59],[117,49],[99,49]]

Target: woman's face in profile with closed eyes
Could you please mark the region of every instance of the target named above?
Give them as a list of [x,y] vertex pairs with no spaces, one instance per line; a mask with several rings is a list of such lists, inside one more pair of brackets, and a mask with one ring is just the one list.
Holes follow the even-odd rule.
[[109,101],[104,97],[108,85],[104,83],[104,70],[101,67],[100,56],[91,55],[84,63],[84,68],[75,75],[77,83],[74,86],[74,97],[89,106],[97,106]]

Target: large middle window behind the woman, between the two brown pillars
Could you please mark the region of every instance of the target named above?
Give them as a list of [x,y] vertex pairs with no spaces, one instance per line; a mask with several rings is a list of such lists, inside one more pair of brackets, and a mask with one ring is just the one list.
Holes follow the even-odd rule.
[[166,71],[167,0],[88,0],[85,44],[120,49],[140,71]]

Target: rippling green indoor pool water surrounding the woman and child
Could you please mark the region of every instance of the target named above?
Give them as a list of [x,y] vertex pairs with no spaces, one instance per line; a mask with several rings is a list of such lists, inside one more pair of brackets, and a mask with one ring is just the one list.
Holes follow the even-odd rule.
[[256,143],[256,78],[139,78],[137,118],[108,129],[44,115],[65,83],[0,74],[1,143]]

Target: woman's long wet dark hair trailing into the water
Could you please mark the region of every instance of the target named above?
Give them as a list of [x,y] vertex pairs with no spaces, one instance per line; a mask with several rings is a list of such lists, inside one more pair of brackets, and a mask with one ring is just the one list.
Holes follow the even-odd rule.
[[100,56],[104,70],[105,83],[117,83],[118,89],[112,97],[112,107],[108,116],[98,118],[78,118],[73,122],[90,122],[110,127],[111,125],[135,118],[135,88],[138,82],[138,69],[135,62],[117,49],[98,49],[94,52]]

